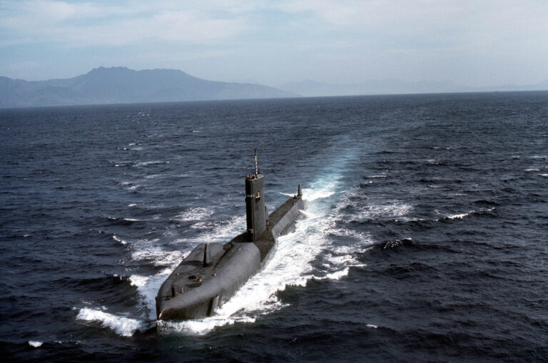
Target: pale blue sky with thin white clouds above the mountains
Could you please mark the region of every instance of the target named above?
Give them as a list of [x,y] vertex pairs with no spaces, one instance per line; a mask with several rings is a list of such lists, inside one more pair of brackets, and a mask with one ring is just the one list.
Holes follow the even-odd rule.
[[0,0],[0,76],[98,66],[268,86],[534,84],[548,79],[548,0]]

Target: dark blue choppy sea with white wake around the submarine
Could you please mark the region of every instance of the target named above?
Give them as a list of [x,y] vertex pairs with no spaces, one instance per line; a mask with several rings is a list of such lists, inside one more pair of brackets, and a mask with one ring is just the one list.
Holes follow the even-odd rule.
[[[0,111],[9,361],[545,361],[548,93]],[[161,282],[270,210],[308,218],[215,317]]]

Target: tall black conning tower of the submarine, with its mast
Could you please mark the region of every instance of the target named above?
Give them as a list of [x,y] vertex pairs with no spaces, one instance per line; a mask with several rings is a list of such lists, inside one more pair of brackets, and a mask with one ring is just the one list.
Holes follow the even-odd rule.
[[264,178],[257,165],[255,150],[255,173],[245,176],[245,214],[248,222],[248,242],[256,242],[266,232],[268,210],[265,207]]

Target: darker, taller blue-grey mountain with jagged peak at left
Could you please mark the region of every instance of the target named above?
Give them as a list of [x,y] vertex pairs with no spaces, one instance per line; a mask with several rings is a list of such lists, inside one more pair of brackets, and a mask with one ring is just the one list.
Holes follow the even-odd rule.
[[0,108],[296,96],[258,84],[206,81],[174,69],[99,67],[82,76],[49,81],[0,77]]

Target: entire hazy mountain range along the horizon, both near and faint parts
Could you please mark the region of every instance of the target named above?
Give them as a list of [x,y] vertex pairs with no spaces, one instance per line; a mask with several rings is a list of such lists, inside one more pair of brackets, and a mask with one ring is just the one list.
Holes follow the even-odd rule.
[[253,83],[207,81],[175,69],[133,71],[126,67],[99,67],[81,76],[49,81],[23,81],[0,77],[0,108],[299,96],[544,90],[548,90],[548,80],[528,86],[491,87],[460,86],[452,81],[405,82],[395,79],[373,79],[360,83],[302,81],[285,83],[274,88]]

